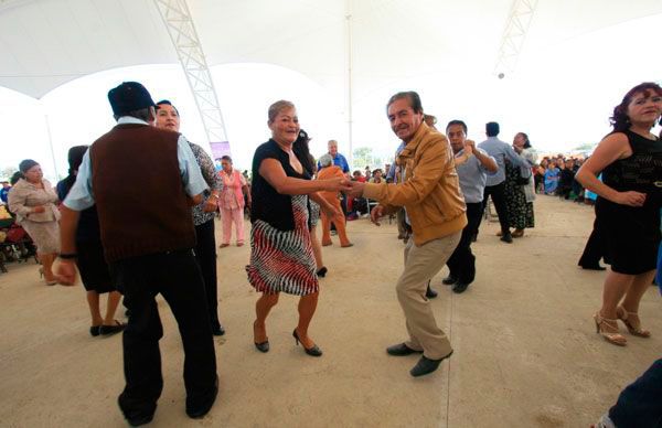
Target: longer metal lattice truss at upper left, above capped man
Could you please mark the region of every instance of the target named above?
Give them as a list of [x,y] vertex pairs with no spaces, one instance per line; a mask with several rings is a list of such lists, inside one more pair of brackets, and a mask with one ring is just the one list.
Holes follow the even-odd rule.
[[186,0],[154,0],[177,50],[210,142],[227,141],[218,98]]

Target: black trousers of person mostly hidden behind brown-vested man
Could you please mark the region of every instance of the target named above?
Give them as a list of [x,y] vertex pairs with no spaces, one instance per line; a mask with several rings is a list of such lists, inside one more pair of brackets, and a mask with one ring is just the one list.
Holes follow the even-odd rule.
[[195,226],[196,245],[195,259],[202,271],[204,290],[206,292],[207,309],[212,330],[218,329],[218,295],[216,279],[216,236],[214,235],[214,220]]

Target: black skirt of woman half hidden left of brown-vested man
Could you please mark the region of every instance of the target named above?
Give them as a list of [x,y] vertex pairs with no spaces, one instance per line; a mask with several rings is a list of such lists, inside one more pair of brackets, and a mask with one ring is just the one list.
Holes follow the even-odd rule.
[[104,258],[104,247],[98,240],[77,242],[78,258],[76,266],[81,272],[81,281],[87,291],[96,291],[99,295],[115,291],[115,285],[110,279],[108,264]]

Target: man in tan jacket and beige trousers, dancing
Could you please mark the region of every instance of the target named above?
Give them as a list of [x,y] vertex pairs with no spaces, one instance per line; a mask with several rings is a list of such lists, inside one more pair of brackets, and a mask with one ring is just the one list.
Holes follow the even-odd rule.
[[393,132],[405,143],[396,160],[401,182],[352,182],[351,195],[380,201],[371,213],[377,225],[384,214],[405,207],[405,222],[413,235],[405,247],[405,270],[396,291],[409,340],[387,347],[386,352],[395,356],[423,353],[409,372],[412,376],[423,376],[436,371],[452,354],[425,293],[427,281],[441,270],[460,240],[467,225],[466,206],[450,145],[423,121],[418,94],[395,94],[388,100],[387,114]]

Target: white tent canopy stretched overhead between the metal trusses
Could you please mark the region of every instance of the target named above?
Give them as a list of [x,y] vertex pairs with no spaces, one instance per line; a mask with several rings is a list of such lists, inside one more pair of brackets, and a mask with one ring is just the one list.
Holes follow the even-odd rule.
[[[188,3],[210,66],[270,63],[332,90],[346,79],[345,14],[351,13],[360,99],[388,82],[442,74],[458,63],[492,73],[512,0]],[[568,40],[659,13],[659,0],[538,0],[520,63]],[[640,41],[651,54],[658,42]],[[35,98],[104,69],[178,62],[150,0],[6,0],[0,54],[0,86]]]

